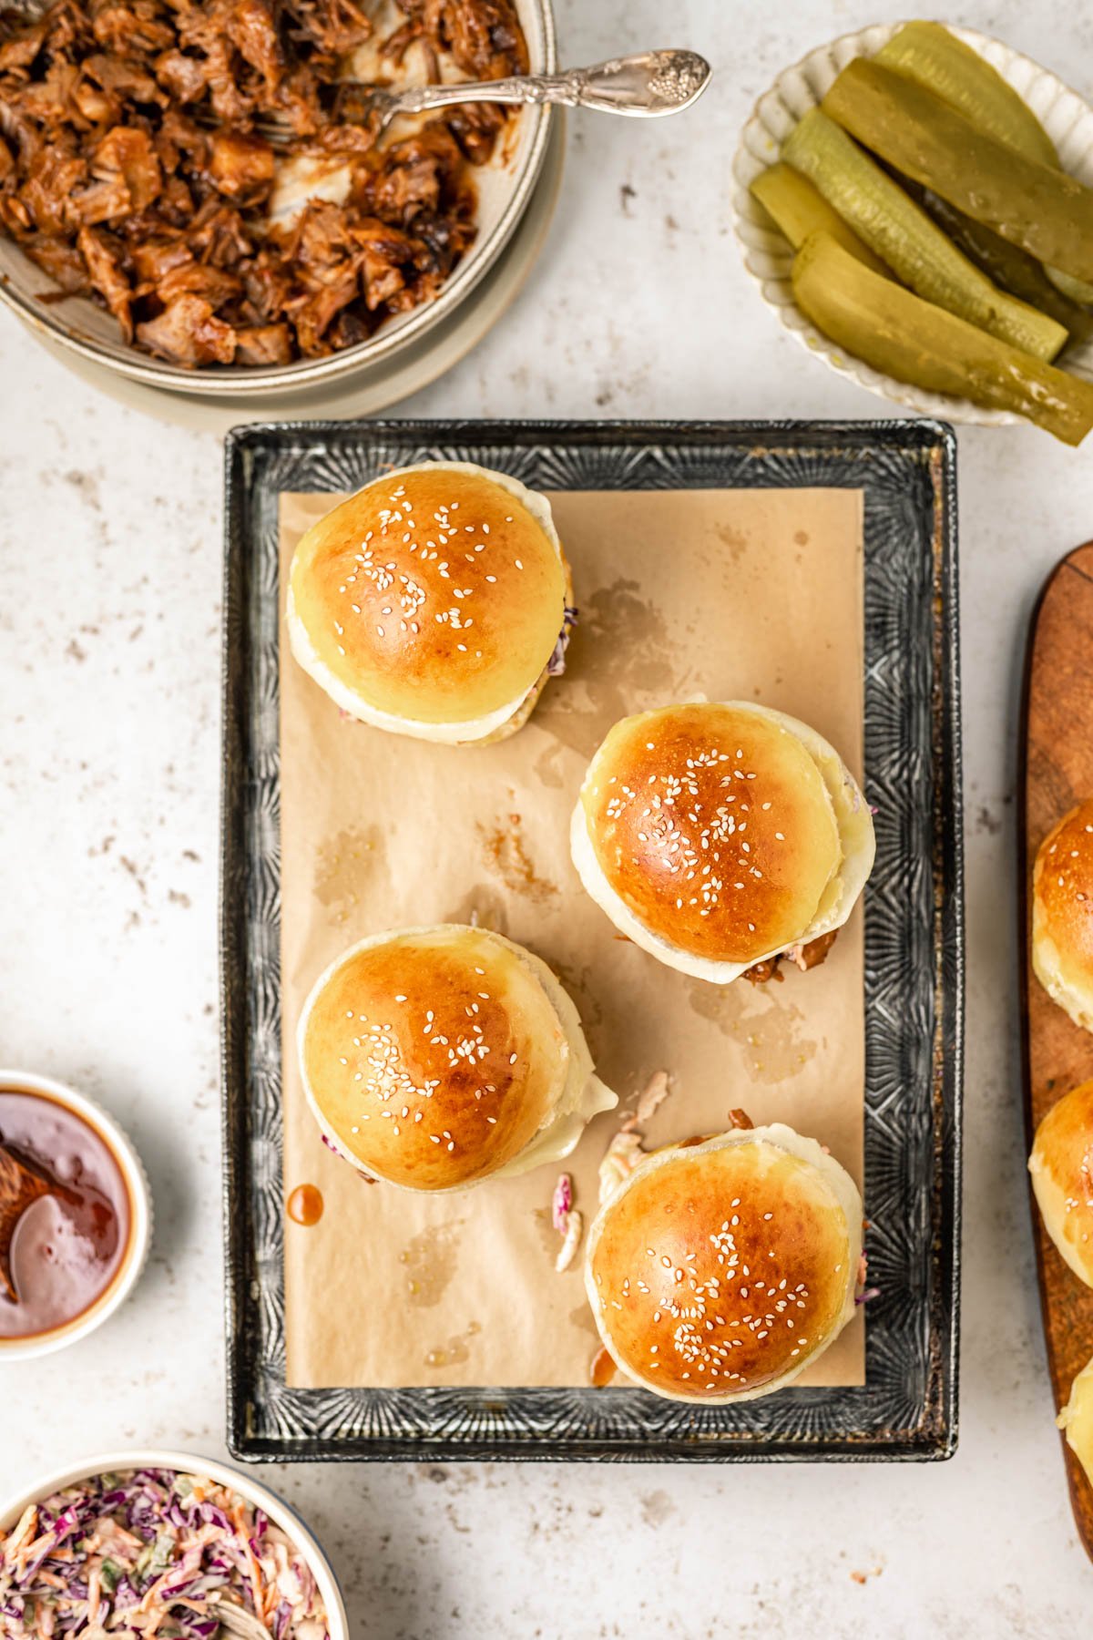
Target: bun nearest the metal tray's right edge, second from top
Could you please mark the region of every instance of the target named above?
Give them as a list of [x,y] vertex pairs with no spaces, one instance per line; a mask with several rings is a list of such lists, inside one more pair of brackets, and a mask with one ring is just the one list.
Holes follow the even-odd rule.
[[588,766],[570,851],[621,933],[728,984],[841,928],[875,838],[834,746],[783,712],[729,700],[616,723]]

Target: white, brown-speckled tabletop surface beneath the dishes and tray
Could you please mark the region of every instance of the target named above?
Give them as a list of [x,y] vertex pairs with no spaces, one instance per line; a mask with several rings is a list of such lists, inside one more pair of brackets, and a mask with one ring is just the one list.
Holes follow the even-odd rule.
[[[562,52],[678,39],[678,121],[580,116],[549,251],[416,415],[873,417],[767,313],[731,156],[780,67],[896,5],[560,0]],[[968,0],[1086,95],[1093,15]],[[1039,1337],[1021,1153],[1014,723],[1036,590],[1093,535],[1093,453],[960,431],[970,891],[962,1442],[911,1468],[297,1468],[356,1640],[1057,1635],[1088,1625]],[[0,318],[0,1043],[139,1143],[149,1269],[108,1328],[0,1374],[0,1491],[80,1450],[221,1451],[216,1099],[220,449],[118,410]],[[873,1569],[880,1568],[877,1574]],[[870,1573],[864,1584],[852,1574]],[[823,1612],[819,1629],[816,1612]]]

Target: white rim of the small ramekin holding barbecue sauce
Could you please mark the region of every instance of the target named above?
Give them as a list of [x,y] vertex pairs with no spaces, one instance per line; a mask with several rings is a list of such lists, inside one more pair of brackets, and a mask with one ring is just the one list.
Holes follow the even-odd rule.
[[0,1089],[43,1094],[85,1122],[93,1133],[98,1133],[118,1163],[129,1197],[129,1245],[108,1287],[95,1299],[90,1309],[62,1327],[36,1333],[33,1338],[0,1338],[0,1366],[5,1366],[8,1361],[29,1361],[38,1355],[64,1350],[66,1345],[75,1343],[77,1338],[85,1338],[90,1332],[95,1332],[115,1310],[121,1309],[147,1261],[147,1250],[152,1241],[152,1192],[147,1186],[141,1158],[133,1148],[129,1137],[87,1094],[80,1094],[75,1087],[67,1087],[64,1082],[54,1082],[49,1076],[11,1069],[0,1069]]

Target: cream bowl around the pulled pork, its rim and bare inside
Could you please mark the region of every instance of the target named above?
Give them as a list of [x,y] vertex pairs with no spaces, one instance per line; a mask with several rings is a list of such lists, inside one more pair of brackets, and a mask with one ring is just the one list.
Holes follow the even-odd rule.
[[[531,72],[552,72],[557,62],[551,0],[516,0],[516,11],[528,39]],[[485,279],[534,192],[556,115],[557,110],[549,107],[518,110],[490,164],[475,167],[478,233],[436,300],[395,315],[367,341],[328,358],[267,367],[216,364],[198,369],[152,359],[128,346],[113,315],[90,298],[43,302],[43,294],[56,294],[59,287],[7,235],[0,235],[0,302],[13,308],[43,341],[52,341],[75,358],[144,387],[197,397],[243,399],[270,392],[306,392],[318,384],[341,382],[364,364],[390,361],[413,346],[426,331],[444,323]]]

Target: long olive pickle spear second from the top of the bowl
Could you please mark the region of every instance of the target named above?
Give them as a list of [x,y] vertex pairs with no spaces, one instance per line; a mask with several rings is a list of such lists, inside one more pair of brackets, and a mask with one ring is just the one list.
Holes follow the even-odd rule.
[[1037,261],[1093,280],[1093,189],[1029,159],[882,62],[847,62],[823,100],[859,143]]

